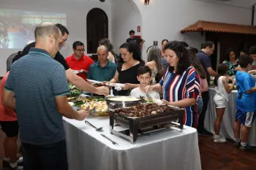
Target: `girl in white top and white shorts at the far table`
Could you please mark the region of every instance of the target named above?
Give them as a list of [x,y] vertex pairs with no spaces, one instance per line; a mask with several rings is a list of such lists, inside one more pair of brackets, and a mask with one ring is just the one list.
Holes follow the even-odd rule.
[[[214,122],[214,142],[223,143],[226,142],[226,139],[222,136],[219,136],[220,131],[220,125],[222,123],[222,117],[225,112],[225,108],[227,107],[227,93],[231,93],[231,91],[234,88],[234,85],[236,85],[236,81],[232,78],[227,78],[227,71],[228,66],[225,63],[222,63],[217,68],[217,77],[214,78],[214,85],[216,90],[216,95],[214,96],[214,104],[216,108],[216,115],[217,118]],[[232,85],[228,85],[228,81],[232,80]]]

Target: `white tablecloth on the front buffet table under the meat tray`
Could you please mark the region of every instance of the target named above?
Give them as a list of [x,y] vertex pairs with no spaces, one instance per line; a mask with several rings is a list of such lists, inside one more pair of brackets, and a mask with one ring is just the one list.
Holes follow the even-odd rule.
[[[185,126],[183,132],[158,131],[138,138],[135,144],[110,134],[109,117],[88,117],[102,126],[95,131],[83,121],[64,117],[69,170],[200,170],[197,131]],[[112,144],[105,134],[119,145]]]

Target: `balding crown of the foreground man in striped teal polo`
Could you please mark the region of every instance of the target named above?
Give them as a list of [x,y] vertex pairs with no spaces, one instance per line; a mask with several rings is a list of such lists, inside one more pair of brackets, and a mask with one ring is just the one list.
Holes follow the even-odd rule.
[[61,35],[59,28],[50,22],[42,22],[34,30],[35,39],[50,35],[53,35],[56,38],[59,38],[59,35]]

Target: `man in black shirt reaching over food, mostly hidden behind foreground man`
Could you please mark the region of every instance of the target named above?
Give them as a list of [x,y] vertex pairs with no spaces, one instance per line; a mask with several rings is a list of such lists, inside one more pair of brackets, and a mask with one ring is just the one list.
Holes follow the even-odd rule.
[[[60,23],[57,23],[56,26],[59,28],[59,30],[61,31],[62,34],[62,45],[61,47],[66,45],[66,41],[67,41],[67,36],[69,34],[69,31],[67,31],[67,28],[62,26]],[[29,53],[29,50],[31,47],[35,47],[36,42],[32,42],[31,44],[27,45],[20,57],[27,55]],[[60,47],[60,49],[61,49]],[[65,60],[64,56],[61,55],[61,53],[56,53],[55,58],[56,61],[59,61],[59,63],[61,63],[62,66],[64,66],[64,69],[66,70],[66,78],[67,81],[71,82],[73,85],[75,85],[76,87],[80,88],[83,91],[89,91],[90,93],[95,93],[98,95],[104,95],[104,96],[108,96],[109,95],[109,89],[107,87],[99,87],[99,88],[95,88],[93,85],[90,85],[88,82],[86,82],[85,80],[83,80],[83,78],[79,77],[78,75],[74,74],[72,72],[72,69],[69,68],[69,65],[67,65],[67,61]]]

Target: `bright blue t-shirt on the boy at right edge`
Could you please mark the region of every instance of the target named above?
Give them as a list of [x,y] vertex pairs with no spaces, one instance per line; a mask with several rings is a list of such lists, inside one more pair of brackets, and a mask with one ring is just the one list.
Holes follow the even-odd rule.
[[[236,72],[236,87],[238,93],[236,96],[236,109],[244,112],[255,111],[255,96],[256,93],[246,93],[246,90],[252,90],[255,87],[255,80],[247,72]],[[239,96],[240,99],[239,99]]]

